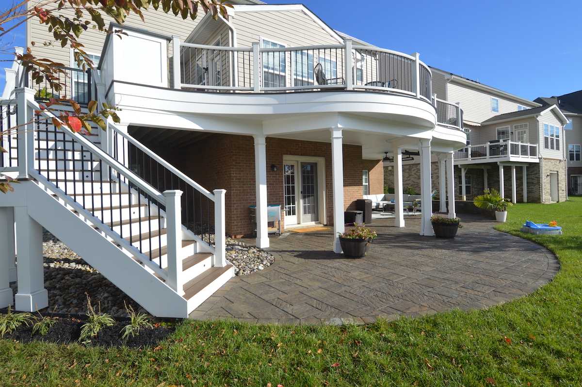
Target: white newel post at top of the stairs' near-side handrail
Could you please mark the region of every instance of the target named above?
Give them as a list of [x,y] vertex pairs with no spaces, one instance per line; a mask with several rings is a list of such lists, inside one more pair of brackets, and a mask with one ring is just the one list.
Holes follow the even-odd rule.
[[[18,104],[17,122],[19,125],[29,122],[34,118],[33,109],[29,107],[28,101],[34,101],[34,90],[23,87],[17,88],[16,102]],[[28,179],[29,168],[34,163],[34,123],[20,126],[18,129],[18,178]]]

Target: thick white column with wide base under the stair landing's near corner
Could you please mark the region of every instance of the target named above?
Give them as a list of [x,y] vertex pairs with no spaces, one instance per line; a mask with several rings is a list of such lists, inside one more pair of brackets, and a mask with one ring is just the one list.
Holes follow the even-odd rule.
[[48,306],[42,268],[42,226],[30,217],[27,207],[15,207],[18,293],[15,310],[34,312]]

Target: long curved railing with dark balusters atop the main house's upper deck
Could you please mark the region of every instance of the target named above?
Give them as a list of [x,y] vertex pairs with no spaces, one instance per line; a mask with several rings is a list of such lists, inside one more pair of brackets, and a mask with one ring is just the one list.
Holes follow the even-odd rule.
[[[175,88],[201,91],[373,90],[432,100],[432,73],[418,54],[345,44],[219,47],[173,39]],[[346,55],[350,53],[350,55]],[[179,81],[178,81],[179,80]]]

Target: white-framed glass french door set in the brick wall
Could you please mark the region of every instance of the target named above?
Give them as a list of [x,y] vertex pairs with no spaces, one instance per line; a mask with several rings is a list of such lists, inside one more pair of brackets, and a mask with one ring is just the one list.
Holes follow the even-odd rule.
[[319,192],[317,162],[285,161],[283,164],[285,225],[318,222]]

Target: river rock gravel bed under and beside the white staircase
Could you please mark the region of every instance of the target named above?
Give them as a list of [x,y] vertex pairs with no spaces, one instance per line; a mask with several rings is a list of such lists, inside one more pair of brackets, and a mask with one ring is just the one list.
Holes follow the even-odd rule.
[[[127,315],[125,304],[143,311],[130,297],[88,265],[64,243],[50,233],[43,236],[44,280],[48,290],[49,311],[85,314],[87,296],[103,313],[116,317]],[[226,259],[235,266],[236,275],[248,275],[271,265],[273,255],[236,239],[226,238]],[[16,283],[11,287],[16,294]]]

